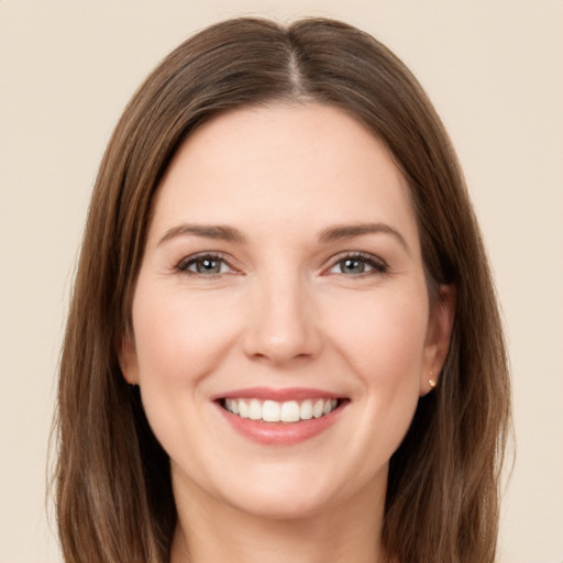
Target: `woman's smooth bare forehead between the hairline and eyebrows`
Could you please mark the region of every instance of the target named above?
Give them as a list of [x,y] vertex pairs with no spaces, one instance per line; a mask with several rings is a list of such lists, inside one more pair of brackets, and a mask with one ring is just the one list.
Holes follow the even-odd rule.
[[322,229],[386,222],[417,239],[407,184],[383,142],[343,110],[242,108],[180,146],[158,188],[152,231],[206,221]]

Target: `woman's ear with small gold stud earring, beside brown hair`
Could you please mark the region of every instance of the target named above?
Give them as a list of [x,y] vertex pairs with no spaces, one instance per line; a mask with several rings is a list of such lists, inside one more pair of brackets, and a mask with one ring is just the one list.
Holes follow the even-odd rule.
[[455,316],[455,286],[441,285],[438,299],[431,305],[427,340],[420,372],[420,396],[431,391],[450,350]]

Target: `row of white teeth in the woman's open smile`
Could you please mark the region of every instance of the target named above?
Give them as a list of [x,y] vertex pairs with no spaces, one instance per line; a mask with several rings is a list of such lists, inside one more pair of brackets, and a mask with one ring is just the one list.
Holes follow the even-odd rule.
[[224,408],[241,418],[264,422],[298,422],[330,415],[338,406],[336,399],[306,399],[302,402],[288,400],[225,399]]

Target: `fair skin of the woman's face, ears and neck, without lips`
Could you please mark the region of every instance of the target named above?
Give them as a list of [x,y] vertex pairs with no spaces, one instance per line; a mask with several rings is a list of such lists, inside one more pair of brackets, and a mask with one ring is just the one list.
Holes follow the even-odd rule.
[[[386,227],[319,239],[367,223]],[[200,253],[225,262],[200,274]],[[399,169],[341,110],[239,109],[185,142],[158,189],[121,354],[170,456],[173,563],[379,561],[388,461],[449,345],[453,291],[440,295],[431,307]],[[319,435],[261,444],[212,400],[255,386],[349,402]]]

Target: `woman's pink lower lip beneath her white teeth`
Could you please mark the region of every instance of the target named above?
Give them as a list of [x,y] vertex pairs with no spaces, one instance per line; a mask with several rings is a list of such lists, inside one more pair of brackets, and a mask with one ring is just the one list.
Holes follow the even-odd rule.
[[234,430],[254,442],[266,445],[292,445],[319,435],[338,420],[343,407],[344,405],[340,405],[330,415],[299,422],[264,422],[239,417],[218,405],[219,410]]

